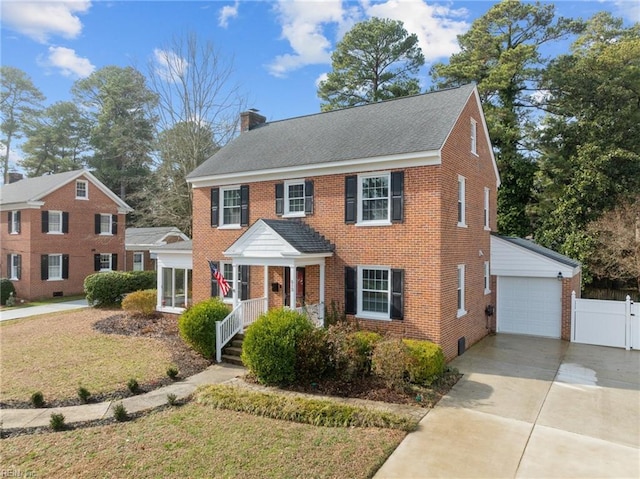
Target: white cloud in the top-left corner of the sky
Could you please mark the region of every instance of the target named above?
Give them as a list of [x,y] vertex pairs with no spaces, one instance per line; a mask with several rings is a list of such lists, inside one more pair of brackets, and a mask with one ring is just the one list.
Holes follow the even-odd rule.
[[46,43],[50,36],[76,38],[82,31],[78,14],[91,7],[89,0],[3,1],[2,23],[33,40]]

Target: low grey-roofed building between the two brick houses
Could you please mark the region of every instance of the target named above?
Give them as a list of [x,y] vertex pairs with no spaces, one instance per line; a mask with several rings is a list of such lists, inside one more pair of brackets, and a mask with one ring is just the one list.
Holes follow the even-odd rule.
[[123,269],[125,271],[155,271],[156,258],[150,250],[188,239],[189,237],[175,226],[127,228],[124,234],[127,253]]

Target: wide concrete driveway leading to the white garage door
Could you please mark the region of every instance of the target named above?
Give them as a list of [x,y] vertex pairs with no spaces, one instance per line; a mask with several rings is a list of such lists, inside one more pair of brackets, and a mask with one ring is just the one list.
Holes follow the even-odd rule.
[[640,477],[640,351],[497,335],[376,478]]

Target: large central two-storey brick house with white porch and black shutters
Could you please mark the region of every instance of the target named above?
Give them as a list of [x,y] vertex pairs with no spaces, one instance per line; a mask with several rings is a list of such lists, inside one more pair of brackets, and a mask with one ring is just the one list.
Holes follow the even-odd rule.
[[499,176],[473,85],[266,122],[196,168],[193,299],[332,303],[451,358],[488,332]]

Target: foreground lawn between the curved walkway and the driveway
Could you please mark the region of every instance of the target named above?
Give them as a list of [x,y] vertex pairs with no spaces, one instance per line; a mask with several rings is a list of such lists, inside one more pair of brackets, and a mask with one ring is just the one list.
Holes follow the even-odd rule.
[[358,479],[371,477],[404,436],[189,403],[127,423],[3,439],[2,461],[37,477]]

